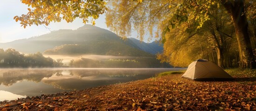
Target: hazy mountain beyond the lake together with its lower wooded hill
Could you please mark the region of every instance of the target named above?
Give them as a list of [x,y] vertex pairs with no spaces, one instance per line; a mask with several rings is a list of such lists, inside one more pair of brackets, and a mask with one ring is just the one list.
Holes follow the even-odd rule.
[[39,37],[0,43],[0,48],[13,48],[23,53],[112,56],[152,56],[151,54],[158,50],[155,44],[138,44],[135,39],[124,41],[115,33],[92,25],[84,25],[77,30],[52,31]]

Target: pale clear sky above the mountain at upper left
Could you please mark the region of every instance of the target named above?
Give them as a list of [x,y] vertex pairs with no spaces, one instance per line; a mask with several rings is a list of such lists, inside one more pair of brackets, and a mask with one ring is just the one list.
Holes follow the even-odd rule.
[[[27,12],[28,6],[22,4],[21,0],[0,0],[0,43],[40,36],[60,29],[76,30],[84,25],[83,20],[77,18],[72,23],[67,23],[65,20],[59,23],[52,22],[47,26],[49,29],[43,25],[32,25],[24,29],[21,27],[19,21],[15,22],[13,18],[16,15],[21,16],[22,14],[27,14]],[[105,25],[105,15],[101,15],[96,20],[95,26],[109,30]]]

